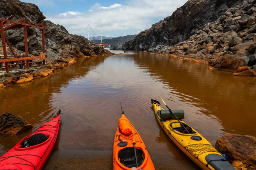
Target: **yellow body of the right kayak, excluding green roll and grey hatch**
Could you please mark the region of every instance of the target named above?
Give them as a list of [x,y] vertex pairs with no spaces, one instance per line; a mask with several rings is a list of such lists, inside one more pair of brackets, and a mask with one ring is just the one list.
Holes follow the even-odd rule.
[[[181,127],[180,123],[176,119],[163,121],[160,118],[160,110],[165,110],[161,108],[158,104],[152,103],[154,106],[154,113],[157,118],[158,123],[169,136],[170,139],[183,151],[192,161],[194,161],[199,167],[203,170],[233,170],[231,164],[224,160],[224,157],[218,150],[215,149],[210,142],[207,141],[200,133],[198,133],[192,127],[189,127],[184,121],[180,120],[180,122],[189,130],[190,134],[186,132],[186,130]],[[221,164],[224,168],[214,168],[207,162],[206,156],[212,154],[219,158],[223,158],[222,161],[224,164]],[[212,156],[211,155],[211,156]],[[218,156],[219,155],[219,156]],[[220,157],[221,156],[221,157]],[[221,160],[211,160],[211,161],[221,161]],[[211,162],[210,161],[210,162]],[[215,164],[217,162],[214,162]],[[222,162],[220,162],[222,163]],[[218,163],[219,164],[219,163]],[[223,166],[224,165],[224,166]],[[217,166],[218,167],[218,166]]]

